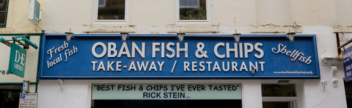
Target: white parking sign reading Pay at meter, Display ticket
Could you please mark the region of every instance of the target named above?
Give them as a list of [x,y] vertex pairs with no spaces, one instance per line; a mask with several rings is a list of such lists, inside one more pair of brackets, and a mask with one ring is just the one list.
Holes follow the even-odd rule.
[[38,93],[20,93],[18,108],[37,108]]

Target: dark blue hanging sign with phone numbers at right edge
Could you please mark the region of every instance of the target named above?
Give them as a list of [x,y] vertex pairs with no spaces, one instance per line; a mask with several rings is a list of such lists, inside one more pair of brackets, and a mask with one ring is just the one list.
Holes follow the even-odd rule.
[[347,49],[345,49],[344,51],[342,51],[342,59],[344,61],[344,71],[345,71],[345,80],[347,81],[351,81],[352,80],[352,69],[351,69],[351,65],[352,65],[352,58],[351,58],[351,54],[352,53],[352,47],[348,47]]

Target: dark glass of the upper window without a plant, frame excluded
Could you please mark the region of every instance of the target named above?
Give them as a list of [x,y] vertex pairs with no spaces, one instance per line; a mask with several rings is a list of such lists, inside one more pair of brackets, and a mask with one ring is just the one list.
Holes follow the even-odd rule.
[[99,0],[98,20],[125,20],[125,0]]

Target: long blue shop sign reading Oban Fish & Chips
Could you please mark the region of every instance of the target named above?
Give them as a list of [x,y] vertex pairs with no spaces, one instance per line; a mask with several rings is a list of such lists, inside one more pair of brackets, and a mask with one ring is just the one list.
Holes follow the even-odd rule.
[[45,34],[39,79],[320,79],[315,35]]

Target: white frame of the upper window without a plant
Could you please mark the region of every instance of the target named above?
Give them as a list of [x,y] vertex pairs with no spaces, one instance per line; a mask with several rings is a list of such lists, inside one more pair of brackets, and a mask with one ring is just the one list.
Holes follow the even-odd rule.
[[92,26],[128,25],[130,17],[130,0],[125,0],[125,20],[98,20],[99,0],[93,0]]

